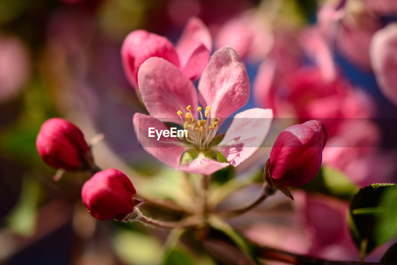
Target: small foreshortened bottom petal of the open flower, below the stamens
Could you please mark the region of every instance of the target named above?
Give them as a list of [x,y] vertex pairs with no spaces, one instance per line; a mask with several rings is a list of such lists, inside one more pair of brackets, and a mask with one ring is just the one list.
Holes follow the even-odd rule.
[[195,160],[193,160],[189,164],[185,164],[182,166],[174,166],[172,168],[193,174],[210,175],[222,168],[225,168],[228,165],[229,163],[222,163],[219,161],[210,160],[202,155],[199,155]]

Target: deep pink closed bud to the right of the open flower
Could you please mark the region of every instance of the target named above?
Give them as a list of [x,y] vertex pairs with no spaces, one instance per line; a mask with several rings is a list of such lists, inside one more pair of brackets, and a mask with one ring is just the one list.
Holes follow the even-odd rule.
[[318,120],[289,126],[277,137],[267,170],[275,186],[296,187],[308,183],[320,170],[327,129]]

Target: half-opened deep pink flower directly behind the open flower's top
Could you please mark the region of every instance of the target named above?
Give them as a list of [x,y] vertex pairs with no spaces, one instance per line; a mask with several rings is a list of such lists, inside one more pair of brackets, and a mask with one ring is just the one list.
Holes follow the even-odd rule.
[[121,47],[125,75],[139,91],[138,70],[150,57],[160,57],[177,66],[190,79],[196,79],[204,70],[212,48],[208,28],[197,17],[187,22],[176,48],[165,37],[143,29],[131,32]]

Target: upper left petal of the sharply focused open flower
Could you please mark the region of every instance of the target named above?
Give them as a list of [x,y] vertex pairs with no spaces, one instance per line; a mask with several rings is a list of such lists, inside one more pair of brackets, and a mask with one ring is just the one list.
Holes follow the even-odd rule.
[[149,58],[139,68],[138,83],[146,109],[162,122],[181,123],[177,112],[186,113],[188,105],[197,113],[197,92],[192,81],[170,62]]

